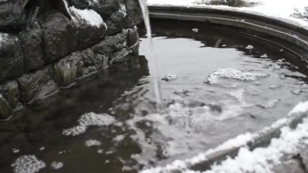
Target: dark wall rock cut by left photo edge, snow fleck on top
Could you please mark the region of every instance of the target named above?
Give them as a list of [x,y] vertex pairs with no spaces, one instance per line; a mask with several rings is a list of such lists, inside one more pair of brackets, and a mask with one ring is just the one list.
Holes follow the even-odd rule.
[[23,55],[15,35],[0,33],[0,82],[23,74]]

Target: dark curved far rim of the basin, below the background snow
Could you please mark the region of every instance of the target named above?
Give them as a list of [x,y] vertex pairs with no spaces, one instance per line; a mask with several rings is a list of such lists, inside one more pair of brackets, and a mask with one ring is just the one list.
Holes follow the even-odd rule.
[[[148,8],[151,19],[208,22],[248,29],[283,39],[308,51],[308,30],[265,16],[206,7],[149,6]],[[290,51],[308,62],[308,54],[302,55],[293,50]]]

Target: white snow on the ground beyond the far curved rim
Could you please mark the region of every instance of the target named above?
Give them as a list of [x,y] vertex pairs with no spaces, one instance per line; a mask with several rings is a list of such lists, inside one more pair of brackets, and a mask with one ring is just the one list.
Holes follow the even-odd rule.
[[[276,20],[280,20],[292,25],[296,25],[308,30],[308,21],[290,17],[295,13],[295,9],[299,12],[304,12],[304,7],[308,6],[308,1],[293,0],[243,0],[246,2],[259,3],[253,7],[228,7],[228,6],[213,6],[197,3],[204,3],[209,0],[147,0],[149,6],[174,6],[187,8],[210,8],[218,10],[239,11],[259,16],[264,16]],[[277,8],[279,6],[279,8]]]

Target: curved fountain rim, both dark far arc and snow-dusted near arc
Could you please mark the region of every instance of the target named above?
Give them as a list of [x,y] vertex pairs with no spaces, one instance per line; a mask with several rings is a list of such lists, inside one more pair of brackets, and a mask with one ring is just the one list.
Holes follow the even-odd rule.
[[[148,6],[148,9],[150,19],[206,22],[253,30],[280,38],[308,52],[308,30],[277,19],[245,12],[207,7]],[[308,54],[300,57],[308,62]],[[186,169],[189,170],[209,170],[214,163],[219,163],[227,157],[236,157],[240,148],[243,146],[248,147],[249,150],[266,147],[271,143],[273,138],[280,137],[281,129],[284,126],[294,129],[307,116],[307,111],[289,114],[285,118],[274,122],[270,127],[264,127],[260,131],[252,134],[253,138],[251,140],[239,146],[224,149],[217,147],[212,150],[215,152],[210,152],[210,150],[208,150],[208,153],[205,152],[202,156],[203,158],[198,161],[190,162],[189,160],[183,160],[183,162],[186,165]],[[155,171],[152,172],[162,172],[161,169],[165,170],[164,172],[182,172],[181,170],[183,170],[181,167],[177,167],[176,163],[174,165],[171,163],[169,167],[161,167],[157,169],[158,171],[153,169]]]

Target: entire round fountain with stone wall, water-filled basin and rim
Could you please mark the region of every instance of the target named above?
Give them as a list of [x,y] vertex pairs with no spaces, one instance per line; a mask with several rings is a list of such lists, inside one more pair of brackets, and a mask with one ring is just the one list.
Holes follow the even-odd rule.
[[290,110],[308,96],[308,31],[143,0],[68,5],[71,20],[0,33],[0,172],[246,170],[245,155],[303,171],[307,103]]

